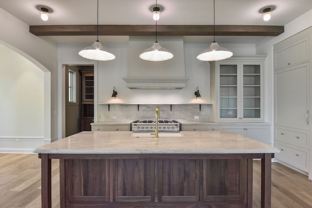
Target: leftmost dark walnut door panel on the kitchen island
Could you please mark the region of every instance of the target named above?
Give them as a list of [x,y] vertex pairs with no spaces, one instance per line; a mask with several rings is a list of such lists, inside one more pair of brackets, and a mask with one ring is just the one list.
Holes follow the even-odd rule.
[[61,204],[65,207],[109,202],[109,161],[66,159],[60,160]]

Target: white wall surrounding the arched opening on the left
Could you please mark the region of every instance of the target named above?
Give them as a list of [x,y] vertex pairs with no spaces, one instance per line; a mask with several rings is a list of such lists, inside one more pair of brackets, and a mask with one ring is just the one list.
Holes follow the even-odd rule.
[[[44,73],[43,142],[49,143],[57,139],[57,44],[29,33],[29,25],[2,8],[0,8],[0,25],[0,44],[25,57]],[[14,59],[11,61],[14,62]],[[0,120],[2,122],[1,117]],[[27,148],[38,147],[41,143],[29,142],[32,145]],[[14,144],[7,142],[5,146],[13,147]]]

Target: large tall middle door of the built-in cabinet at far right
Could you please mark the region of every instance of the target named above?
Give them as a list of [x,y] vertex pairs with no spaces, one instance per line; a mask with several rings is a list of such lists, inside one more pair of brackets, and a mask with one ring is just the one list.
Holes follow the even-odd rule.
[[309,130],[309,63],[275,72],[275,125]]

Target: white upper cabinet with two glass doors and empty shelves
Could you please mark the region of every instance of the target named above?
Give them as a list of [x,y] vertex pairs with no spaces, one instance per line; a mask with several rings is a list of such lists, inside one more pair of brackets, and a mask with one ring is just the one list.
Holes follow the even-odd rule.
[[263,65],[264,59],[211,63],[216,121],[263,121]]

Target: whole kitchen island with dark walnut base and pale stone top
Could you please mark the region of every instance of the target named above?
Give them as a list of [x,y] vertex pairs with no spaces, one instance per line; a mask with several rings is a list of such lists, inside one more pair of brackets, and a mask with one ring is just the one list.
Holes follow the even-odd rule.
[[80,132],[34,150],[42,208],[51,208],[51,159],[59,159],[60,208],[252,208],[253,159],[261,207],[271,207],[278,149],[232,132]]

